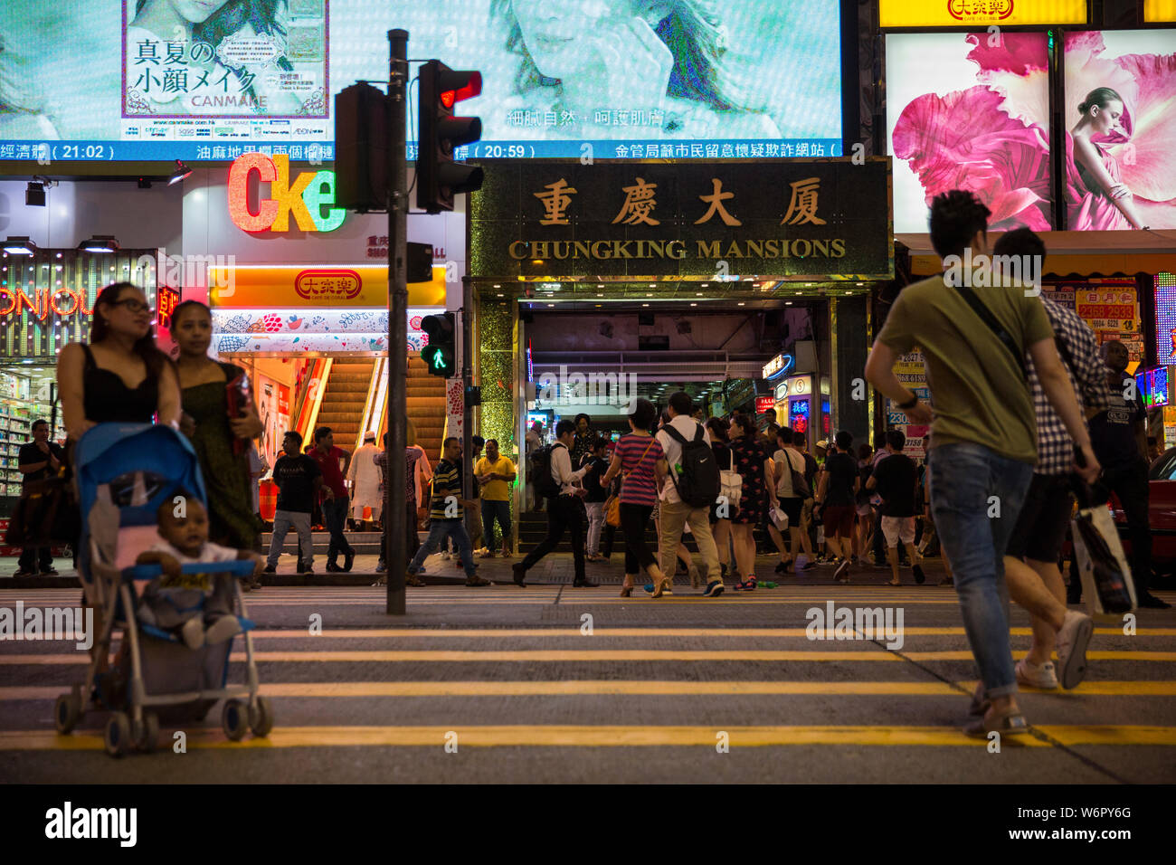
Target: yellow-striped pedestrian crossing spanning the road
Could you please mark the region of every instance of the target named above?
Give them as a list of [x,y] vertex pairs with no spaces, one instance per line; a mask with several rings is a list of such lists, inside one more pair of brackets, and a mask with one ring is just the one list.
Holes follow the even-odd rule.
[[[954,753],[987,745],[961,731],[975,668],[958,614],[944,606],[956,605],[948,590],[781,586],[773,597],[757,590],[704,599],[683,587],[659,600],[616,598],[615,586],[407,592],[403,619],[382,614],[383,587],[267,587],[247,595],[261,693],[273,700],[278,724],[265,739],[233,743],[211,716],[189,725],[188,747],[238,750],[248,760],[283,748],[442,748],[450,734],[503,754],[714,751],[716,737],[733,750]],[[74,606],[78,594],[0,591],[0,607],[18,599],[26,608]],[[844,639],[831,627],[807,627],[806,608],[830,599],[903,607],[901,648],[888,648],[881,636]],[[582,627],[581,608],[614,606],[621,618],[595,616],[596,626]],[[714,620],[699,624],[706,606]],[[330,611],[319,632],[305,624],[315,610]],[[1029,646],[1027,621],[1021,617],[1011,631],[1015,658]],[[1114,753],[1108,777],[1131,779],[1135,761],[1144,772],[1152,748],[1176,746],[1176,616],[1141,612],[1131,633],[1100,625],[1088,658],[1088,678],[1074,691],[1022,688],[1034,727],[1009,744],[1042,754],[1075,748],[1095,764]],[[81,678],[86,660],[65,640],[0,641],[0,765],[5,754],[67,759],[102,750],[102,716],[87,716],[68,737],[51,720],[53,700]],[[232,680],[243,674],[240,640],[230,660]],[[166,754],[135,759],[149,766]],[[1031,765],[1022,767],[1024,780],[1034,779]]]

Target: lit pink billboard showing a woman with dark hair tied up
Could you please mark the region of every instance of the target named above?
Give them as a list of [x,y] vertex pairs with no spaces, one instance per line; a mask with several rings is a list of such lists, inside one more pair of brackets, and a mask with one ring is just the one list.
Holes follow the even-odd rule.
[[1176,228],[1176,31],[1065,34],[1070,231]]

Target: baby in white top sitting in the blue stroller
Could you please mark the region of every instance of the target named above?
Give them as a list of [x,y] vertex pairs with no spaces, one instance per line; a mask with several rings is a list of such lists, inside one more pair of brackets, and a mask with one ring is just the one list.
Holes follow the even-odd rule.
[[208,512],[194,495],[165,499],[156,511],[159,540],[139,554],[135,564],[158,563],[163,573],[143,590],[138,617],[145,625],[168,631],[188,648],[223,643],[241,633],[233,614],[230,586],[215,584],[208,574],[182,573],[181,565],[252,559],[254,572],[261,557],[230,550],[208,540]]

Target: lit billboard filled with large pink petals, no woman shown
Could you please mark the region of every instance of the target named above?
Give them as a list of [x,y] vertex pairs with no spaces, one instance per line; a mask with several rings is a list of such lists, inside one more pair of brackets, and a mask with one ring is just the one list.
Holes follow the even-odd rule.
[[1050,228],[1049,66],[1044,33],[886,38],[894,229],[927,232],[931,199],[970,189],[989,229]]

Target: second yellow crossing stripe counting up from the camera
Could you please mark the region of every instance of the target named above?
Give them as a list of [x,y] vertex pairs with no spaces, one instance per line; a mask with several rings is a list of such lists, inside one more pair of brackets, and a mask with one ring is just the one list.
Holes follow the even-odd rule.
[[[976,683],[960,683],[964,691]],[[54,700],[66,686],[0,687],[0,701]],[[1075,691],[1038,691],[1080,697],[1176,697],[1176,681],[1087,681]],[[634,681],[572,679],[561,681],[320,681],[261,685],[267,697],[575,697],[610,696],[904,696],[958,697],[942,681]]]

